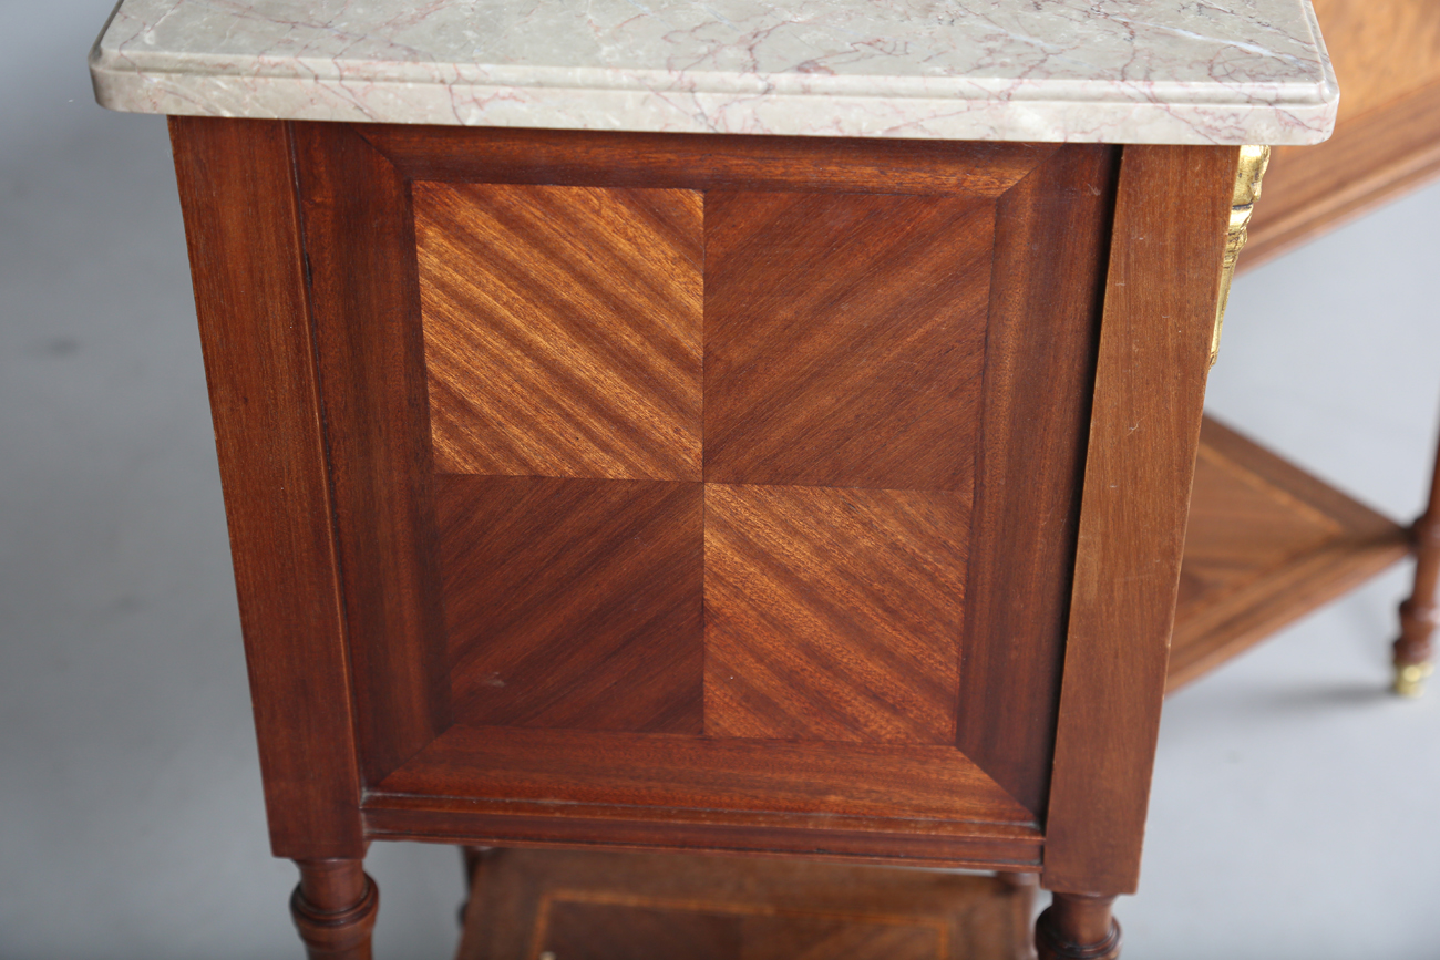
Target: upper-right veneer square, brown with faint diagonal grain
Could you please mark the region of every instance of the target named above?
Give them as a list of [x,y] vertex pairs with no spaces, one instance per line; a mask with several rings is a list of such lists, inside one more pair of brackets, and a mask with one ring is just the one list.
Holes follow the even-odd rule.
[[706,479],[969,482],[995,206],[706,194]]

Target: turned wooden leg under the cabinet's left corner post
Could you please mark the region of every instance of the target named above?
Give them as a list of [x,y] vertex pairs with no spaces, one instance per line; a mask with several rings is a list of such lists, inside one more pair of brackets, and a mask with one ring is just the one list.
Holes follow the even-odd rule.
[[311,960],[370,960],[370,931],[380,891],[357,859],[295,861],[300,885],[289,898]]

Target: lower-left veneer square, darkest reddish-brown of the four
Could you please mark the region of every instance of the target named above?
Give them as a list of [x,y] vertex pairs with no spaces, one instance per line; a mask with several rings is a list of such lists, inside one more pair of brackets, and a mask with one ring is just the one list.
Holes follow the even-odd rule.
[[701,733],[701,485],[436,478],[455,718]]

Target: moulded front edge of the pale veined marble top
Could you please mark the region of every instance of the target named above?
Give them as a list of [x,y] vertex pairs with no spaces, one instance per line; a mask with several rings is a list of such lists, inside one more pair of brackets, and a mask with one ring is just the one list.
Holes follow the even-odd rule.
[[1302,9],[1320,76],[1273,83],[236,56],[147,49],[115,29],[122,7],[91,52],[91,73],[96,101],[130,112],[818,137],[1310,144],[1329,137],[1339,99],[1308,0]]

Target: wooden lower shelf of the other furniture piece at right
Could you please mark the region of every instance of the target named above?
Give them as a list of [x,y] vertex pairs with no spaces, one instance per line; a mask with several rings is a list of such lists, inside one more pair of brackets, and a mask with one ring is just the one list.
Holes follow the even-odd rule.
[[1166,692],[1407,553],[1404,527],[1205,417]]

